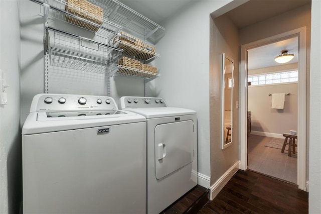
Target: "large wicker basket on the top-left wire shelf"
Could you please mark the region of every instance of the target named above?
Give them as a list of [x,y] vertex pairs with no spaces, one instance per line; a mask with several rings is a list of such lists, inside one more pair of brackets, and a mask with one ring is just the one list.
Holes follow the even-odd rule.
[[[68,13],[74,14],[95,24],[102,25],[103,23],[102,8],[97,7],[86,0],[66,0],[65,10]],[[70,16],[66,16],[66,21],[90,31],[97,32],[99,29],[96,26],[90,25]]]

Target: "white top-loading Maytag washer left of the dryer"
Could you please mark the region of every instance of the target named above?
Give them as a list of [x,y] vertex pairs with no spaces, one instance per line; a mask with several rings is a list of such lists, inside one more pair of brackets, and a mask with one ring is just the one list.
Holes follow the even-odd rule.
[[36,95],[22,149],[23,213],[146,211],[146,119],[113,98]]

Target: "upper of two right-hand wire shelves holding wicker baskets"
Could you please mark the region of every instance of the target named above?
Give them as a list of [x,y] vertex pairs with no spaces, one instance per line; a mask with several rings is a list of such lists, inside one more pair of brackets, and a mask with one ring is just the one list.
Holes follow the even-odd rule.
[[123,49],[123,54],[134,56],[135,58],[141,59],[144,61],[152,58],[158,58],[161,56],[152,51],[148,51],[146,49],[137,47],[133,44],[119,40],[117,38],[114,38],[114,44],[116,45],[117,48]]

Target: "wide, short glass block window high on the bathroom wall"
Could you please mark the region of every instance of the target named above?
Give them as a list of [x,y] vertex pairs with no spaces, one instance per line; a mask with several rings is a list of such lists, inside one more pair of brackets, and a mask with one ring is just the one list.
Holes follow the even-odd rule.
[[248,76],[247,81],[251,82],[251,85],[282,84],[288,82],[297,82],[297,75],[297,70],[278,73],[267,73]]

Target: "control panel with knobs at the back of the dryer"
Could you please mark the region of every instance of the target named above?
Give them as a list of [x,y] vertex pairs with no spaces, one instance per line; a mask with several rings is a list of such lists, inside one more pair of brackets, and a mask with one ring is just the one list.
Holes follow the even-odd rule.
[[159,97],[123,96],[119,100],[120,109],[125,108],[159,108],[167,107],[164,99]]

